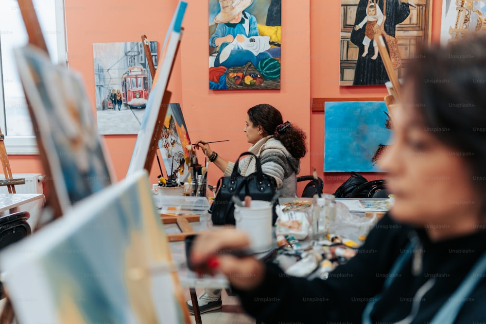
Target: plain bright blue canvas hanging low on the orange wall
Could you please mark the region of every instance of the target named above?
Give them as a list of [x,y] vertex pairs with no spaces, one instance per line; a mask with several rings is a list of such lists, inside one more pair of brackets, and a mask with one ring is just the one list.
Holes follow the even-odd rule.
[[382,171],[377,162],[391,134],[384,102],[326,102],[324,171]]

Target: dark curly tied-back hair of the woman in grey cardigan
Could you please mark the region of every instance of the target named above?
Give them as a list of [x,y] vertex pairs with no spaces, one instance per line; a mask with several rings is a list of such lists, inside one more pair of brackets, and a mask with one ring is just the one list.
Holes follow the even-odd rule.
[[[248,109],[248,117],[253,126],[260,125],[263,128],[263,136],[273,135],[278,125],[283,124],[282,114],[274,106],[261,103]],[[291,125],[276,138],[283,144],[289,153],[296,159],[300,159],[307,153],[304,131],[295,125]]]

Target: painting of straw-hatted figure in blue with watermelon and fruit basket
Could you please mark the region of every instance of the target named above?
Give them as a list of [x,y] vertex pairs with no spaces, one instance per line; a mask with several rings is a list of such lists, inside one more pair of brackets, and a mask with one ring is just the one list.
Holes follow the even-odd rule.
[[281,0],[209,0],[209,89],[280,89]]

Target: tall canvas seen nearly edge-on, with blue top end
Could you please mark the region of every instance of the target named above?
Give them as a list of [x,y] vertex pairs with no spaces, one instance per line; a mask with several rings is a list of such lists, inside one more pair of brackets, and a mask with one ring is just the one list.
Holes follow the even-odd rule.
[[159,60],[162,64],[157,68],[155,74],[154,84],[145,108],[127,175],[141,169],[150,172],[152,168],[157,141],[162,133],[161,124],[169,104],[170,93],[166,89],[180,42],[182,19],[186,7],[186,1],[179,2],[167,31]]

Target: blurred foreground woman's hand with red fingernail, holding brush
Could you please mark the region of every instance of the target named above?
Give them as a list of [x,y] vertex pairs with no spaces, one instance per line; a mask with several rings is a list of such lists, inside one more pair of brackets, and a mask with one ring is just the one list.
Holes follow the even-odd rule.
[[235,229],[201,233],[188,251],[188,264],[197,273],[223,273],[236,288],[251,290],[263,280],[265,266],[249,255],[249,245],[248,236]]

